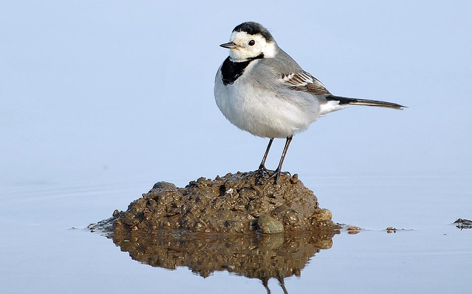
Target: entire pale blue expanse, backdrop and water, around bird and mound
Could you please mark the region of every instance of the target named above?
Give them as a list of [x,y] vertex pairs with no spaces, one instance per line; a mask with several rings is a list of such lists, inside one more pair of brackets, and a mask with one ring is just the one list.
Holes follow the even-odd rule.
[[248,20],[332,93],[410,107],[353,106],[295,137],[284,170],[373,231],[337,235],[289,292],[469,291],[471,230],[450,223],[472,215],[471,1],[160,2],[0,0],[2,293],[265,293],[141,265],[84,229],[156,181],[258,167],[267,140],[213,98],[218,45]]

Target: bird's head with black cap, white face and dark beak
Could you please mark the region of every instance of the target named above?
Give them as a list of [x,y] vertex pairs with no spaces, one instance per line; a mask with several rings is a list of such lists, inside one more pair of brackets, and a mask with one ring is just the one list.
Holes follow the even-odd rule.
[[270,32],[255,22],[245,22],[236,26],[230,42],[220,46],[230,49],[230,58],[236,62],[258,57],[272,58],[277,51],[277,43]]

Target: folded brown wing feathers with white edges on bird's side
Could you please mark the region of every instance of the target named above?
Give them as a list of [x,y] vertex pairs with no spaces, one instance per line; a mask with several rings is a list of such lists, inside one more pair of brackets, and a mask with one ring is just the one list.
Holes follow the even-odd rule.
[[308,92],[315,95],[330,95],[323,83],[306,71],[280,75],[283,85],[297,91]]

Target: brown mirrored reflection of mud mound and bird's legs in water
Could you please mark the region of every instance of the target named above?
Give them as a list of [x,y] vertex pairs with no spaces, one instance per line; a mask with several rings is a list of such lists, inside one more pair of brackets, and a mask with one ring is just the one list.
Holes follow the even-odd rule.
[[202,235],[129,232],[110,235],[121,251],[143,264],[175,269],[187,266],[202,277],[214,271],[228,271],[262,281],[276,278],[284,293],[284,279],[300,276],[316,253],[332,246],[339,231],[318,231],[276,235]]

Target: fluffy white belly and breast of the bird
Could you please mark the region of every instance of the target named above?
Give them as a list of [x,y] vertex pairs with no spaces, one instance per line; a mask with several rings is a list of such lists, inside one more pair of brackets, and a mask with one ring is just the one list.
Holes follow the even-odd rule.
[[319,104],[307,93],[282,97],[256,88],[243,76],[224,86],[221,72],[215,78],[215,100],[223,115],[238,128],[266,138],[287,138],[305,130],[319,116]]

